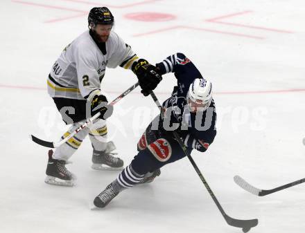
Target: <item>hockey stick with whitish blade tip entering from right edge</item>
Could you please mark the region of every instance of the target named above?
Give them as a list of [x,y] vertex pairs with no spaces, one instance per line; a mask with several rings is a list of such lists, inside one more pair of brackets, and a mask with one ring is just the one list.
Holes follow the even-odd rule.
[[283,189],[287,189],[288,187],[293,187],[295,185],[302,184],[305,182],[305,178],[303,178],[301,180],[293,181],[286,185],[281,185],[279,187],[275,187],[274,189],[258,189],[256,187],[250,185],[249,183],[247,183],[247,181],[245,181],[243,178],[241,178],[241,176],[234,176],[234,182],[241,188],[245,189],[245,191],[250,192],[251,194],[254,194],[256,196],[265,196],[268,194],[272,194],[274,192],[278,192]]

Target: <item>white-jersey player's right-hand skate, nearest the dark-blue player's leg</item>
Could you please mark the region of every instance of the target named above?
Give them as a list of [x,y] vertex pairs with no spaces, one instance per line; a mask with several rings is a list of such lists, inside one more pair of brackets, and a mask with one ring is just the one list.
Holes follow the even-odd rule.
[[105,151],[93,151],[92,154],[92,169],[95,170],[122,170],[123,169],[123,160],[120,158],[114,157],[117,153],[114,153],[116,146],[112,141],[107,142],[107,147]]

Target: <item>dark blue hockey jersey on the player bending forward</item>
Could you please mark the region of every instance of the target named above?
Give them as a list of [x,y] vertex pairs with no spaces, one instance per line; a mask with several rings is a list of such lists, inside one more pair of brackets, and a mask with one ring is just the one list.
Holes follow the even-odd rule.
[[177,78],[177,86],[174,86],[171,97],[162,104],[167,115],[161,125],[162,130],[176,130],[184,145],[198,151],[206,151],[216,136],[215,102],[212,100],[206,111],[196,113],[189,111],[186,102],[186,95],[193,80],[203,78],[200,71],[182,53],[166,57],[156,66],[162,75],[174,73]]

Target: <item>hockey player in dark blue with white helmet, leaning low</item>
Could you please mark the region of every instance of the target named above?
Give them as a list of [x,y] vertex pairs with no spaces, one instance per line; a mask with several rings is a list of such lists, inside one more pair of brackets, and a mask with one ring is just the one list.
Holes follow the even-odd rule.
[[139,183],[150,183],[160,175],[164,165],[184,158],[186,154],[175,140],[177,132],[189,153],[204,152],[216,136],[216,109],[212,84],[202,77],[193,62],[182,53],[171,55],[156,64],[160,75],[174,73],[177,86],[162,105],[161,113],[141,136],[134,159],[118,178],[96,196],[94,205],[105,207],[119,192]]

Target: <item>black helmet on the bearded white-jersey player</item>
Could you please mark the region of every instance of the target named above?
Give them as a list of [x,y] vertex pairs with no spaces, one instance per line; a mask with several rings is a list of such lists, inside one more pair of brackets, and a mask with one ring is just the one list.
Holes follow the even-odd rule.
[[88,15],[88,25],[94,24],[107,24],[113,25],[114,24],[114,17],[108,8],[98,7],[92,8]]

